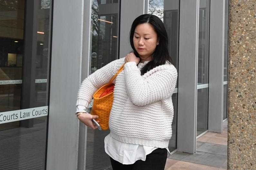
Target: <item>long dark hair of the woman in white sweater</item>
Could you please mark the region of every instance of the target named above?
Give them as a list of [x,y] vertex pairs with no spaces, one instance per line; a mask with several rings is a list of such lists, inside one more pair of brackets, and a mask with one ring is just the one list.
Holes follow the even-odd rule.
[[139,57],[138,52],[136,51],[134,44],[133,44],[133,35],[135,28],[139,24],[143,23],[149,23],[151,24],[156,33],[157,33],[157,39],[159,39],[159,44],[156,45],[156,49],[154,53],[152,54],[153,59],[149,61],[142,69],[141,69],[141,75],[144,75],[147,71],[165,64],[166,61],[169,61],[171,64],[173,64],[172,58],[169,55],[168,52],[168,37],[166,33],[166,29],[164,26],[164,23],[160,18],[158,18],[156,15],[150,15],[150,14],[143,14],[138,16],[132,23],[131,29],[130,29],[130,44],[133,49],[134,54]]

